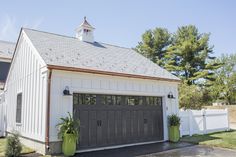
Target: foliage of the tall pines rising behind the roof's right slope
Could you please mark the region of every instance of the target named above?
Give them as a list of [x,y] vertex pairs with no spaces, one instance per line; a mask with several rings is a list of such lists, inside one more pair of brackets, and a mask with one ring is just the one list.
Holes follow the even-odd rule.
[[158,65],[179,76],[189,85],[215,78],[214,70],[220,67],[211,56],[213,46],[209,45],[207,33],[199,33],[193,26],[178,28],[170,34],[167,29],[155,28],[142,35],[136,50]]

